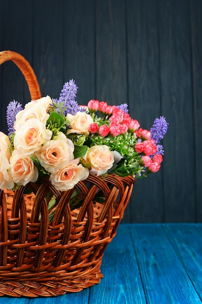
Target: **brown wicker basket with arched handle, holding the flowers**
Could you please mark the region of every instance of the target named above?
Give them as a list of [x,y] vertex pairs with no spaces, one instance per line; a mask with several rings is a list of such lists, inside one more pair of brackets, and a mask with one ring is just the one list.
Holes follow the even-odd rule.
[[[28,83],[31,99],[41,97],[29,63],[19,54],[0,52],[0,64],[12,60]],[[91,185],[89,187],[89,185]],[[116,234],[130,199],[134,179],[117,175],[89,176],[74,189],[56,190],[49,180],[0,192],[0,296],[38,297],[77,292],[103,277],[100,266],[104,250]],[[77,189],[83,204],[70,210]],[[47,193],[58,204],[48,221]],[[96,202],[101,191],[105,203]]]

